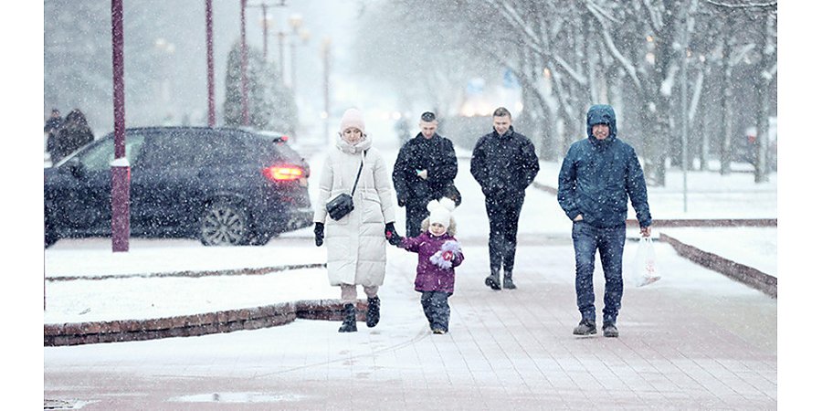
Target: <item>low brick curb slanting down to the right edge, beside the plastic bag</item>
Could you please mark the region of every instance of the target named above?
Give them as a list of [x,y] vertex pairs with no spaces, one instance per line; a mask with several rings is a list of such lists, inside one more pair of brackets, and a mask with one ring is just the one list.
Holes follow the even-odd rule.
[[669,243],[671,247],[677,250],[677,254],[684,258],[688,258],[708,269],[718,271],[730,279],[735,279],[749,287],[764,292],[770,297],[776,298],[776,278],[771,275],[728,258],[722,258],[711,252],[693,247],[690,244],[685,244],[663,233],[659,233],[659,240]]

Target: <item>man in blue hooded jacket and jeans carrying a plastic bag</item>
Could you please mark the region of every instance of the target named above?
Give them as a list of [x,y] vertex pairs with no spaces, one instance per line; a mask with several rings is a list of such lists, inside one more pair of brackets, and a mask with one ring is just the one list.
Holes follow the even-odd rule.
[[606,104],[591,106],[588,138],[571,144],[559,174],[557,200],[574,221],[571,237],[576,257],[576,305],[582,321],[575,335],[596,333],[594,258],[605,271],[602,332],[617,337],[622,303],[622,251],[625,247],[627,200],[637,213],[639,231],[650,236],[651,216],[645,175],[633,147],[617,138],[617,115]]

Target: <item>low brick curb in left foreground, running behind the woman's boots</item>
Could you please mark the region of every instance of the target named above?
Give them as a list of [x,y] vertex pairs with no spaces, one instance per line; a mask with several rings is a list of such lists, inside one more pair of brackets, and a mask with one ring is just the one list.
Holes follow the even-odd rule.
[[[367,307],[367,301],[357,300],[357,321],[365,321]],[[262,307],[148,320],[44,324],[43,346],[145,341],[258,330],[287,324],[298,318],[342,321],[342,300],[299,300]]]

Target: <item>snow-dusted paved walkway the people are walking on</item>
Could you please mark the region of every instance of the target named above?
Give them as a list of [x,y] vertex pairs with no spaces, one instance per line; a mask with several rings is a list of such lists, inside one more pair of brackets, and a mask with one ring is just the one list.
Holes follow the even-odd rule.
[[[742,284],[732,293],[665,287],[664,279],[626,285],[619,338],[575,337],[569,244],[523,242],[518,290],[492,291],[483,285],[487,249],[468,243],[448,334],[427,330],[408,291],[412,255],[391,253],[374,329],[361,322],[360,332],[340,334],[337,322],[297,320],[49,347],[44,397],[82,409],[776,409],[775,299]],[[282,341],[293,335],[306,342]],[[227,344],[247,350],[221,351]]]

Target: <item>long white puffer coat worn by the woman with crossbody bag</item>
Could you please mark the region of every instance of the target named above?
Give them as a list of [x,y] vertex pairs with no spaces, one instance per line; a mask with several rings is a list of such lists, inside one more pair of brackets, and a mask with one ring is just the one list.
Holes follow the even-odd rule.
[[[394,222],[394,195],[385,160],[371,143],[368,134],[356,144],[338,136],[336,148],[322,166],[314,221],[325,224],[332,286],[381,286],[385,279],[385,223]],[[325,204],[341,193],[351,194],[361,160],[363,172],[354,191],[353,211],[335,221],[328,217]]]

